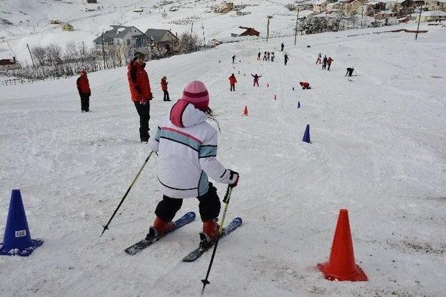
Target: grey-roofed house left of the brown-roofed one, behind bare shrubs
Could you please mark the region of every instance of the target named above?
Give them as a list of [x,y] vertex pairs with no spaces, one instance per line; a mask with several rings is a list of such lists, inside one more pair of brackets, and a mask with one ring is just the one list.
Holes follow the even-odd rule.
[[98,38],[93,40],[95,45],[126,45],[128,47],[144,47],[146,45],[146,35],[134,26],[112,25],[112,30],[105,31]]

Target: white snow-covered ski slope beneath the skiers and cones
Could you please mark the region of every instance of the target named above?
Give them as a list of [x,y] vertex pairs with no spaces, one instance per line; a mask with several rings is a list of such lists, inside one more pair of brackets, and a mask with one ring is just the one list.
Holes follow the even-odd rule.
[[[404,32],[344,31],[299,37],[296,47],[293,38],[240,42],[148,63],[152,134],[171,107],[160,78],[172,99],[202,80],[222,128],[219,159],[241,175],[228,218],[243,225],[220,242],[206,295],[445,296],[446,38],[429,30],[416,42]],[[277,61],[256,61],[264,50]],[[334,58],[330,72],[314,65],[319,51]],[[358,75],[348,79],[352,65]],[[262,74],[260,88],[251,73]],[[89,75],[91,113],[80,112],[75,79],[0,89],[0,234],[10,190],[20,188],[31,236],[45,241],[31,257],[0,257],[0,295],[199,295],[210,252],[180,259],[198,245],[200,220],[138,255],[123,252],[153,222],[156,156],[99,237],[148,148],[125,68]],[[297,88],[302,80],[312,90]],[[312,144],[301,141],[307,124]],[[217,188],[222,197],[225,185]],[[330,282],[316,269],[341,208],[368,282]],[[177,216],[186,211],[198,213],[197,201],[185,200]]]

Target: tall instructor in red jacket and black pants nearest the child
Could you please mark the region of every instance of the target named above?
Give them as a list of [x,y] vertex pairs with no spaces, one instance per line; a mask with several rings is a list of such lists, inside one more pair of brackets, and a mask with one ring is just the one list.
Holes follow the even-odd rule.
[[153,98],[151,84],[144,67],[146,67],[144,54],[139,51],[135,52],[133,60],[128,65],[127,77],[132,102],[139,115],[139,138],[141,143],[148,142],[148,120],[151,118],[150,100]]

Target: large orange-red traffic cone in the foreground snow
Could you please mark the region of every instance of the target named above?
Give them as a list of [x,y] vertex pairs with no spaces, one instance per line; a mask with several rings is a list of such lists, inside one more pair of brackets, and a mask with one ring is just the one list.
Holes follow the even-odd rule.
[[367,280],[367,275],[355,264],[347,209],[339,211],[330,259],[328,262],[318,263],[318,268],[327,280]]

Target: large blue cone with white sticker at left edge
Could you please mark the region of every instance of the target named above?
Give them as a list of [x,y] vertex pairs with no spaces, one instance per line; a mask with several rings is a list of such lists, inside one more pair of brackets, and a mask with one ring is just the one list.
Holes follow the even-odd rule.
[[29,256],[42,243],[43,241],[31,239],[22,195],[20,195],[20,190],[13,190],[9,202],[5,236],[3,243],[0,243],[0,255]]

